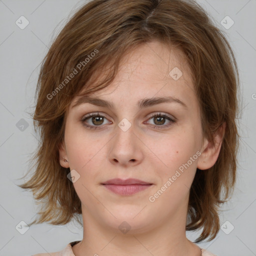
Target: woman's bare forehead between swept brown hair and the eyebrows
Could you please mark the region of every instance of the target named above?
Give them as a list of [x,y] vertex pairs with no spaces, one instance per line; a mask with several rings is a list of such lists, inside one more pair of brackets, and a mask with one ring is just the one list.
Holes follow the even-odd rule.
[[[104,70],[95,72],[94,77],[92,75],[92,80],[95,79],[93,83],[104,79],[106,75],[107,71]],[[90,85],[89,81],[87,85]],[[84,92],[86,88],[81,91]],[[182,51],[151,41],[127,51],[113,81],[91,95],[113,101],[117,99],[116,96],[139,100],[142,96],[171,95],[189,101],[191,94],[194,94],[192,76]],[[79,95],[73,98],[71,107],[79,98]]]

